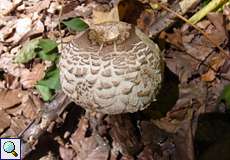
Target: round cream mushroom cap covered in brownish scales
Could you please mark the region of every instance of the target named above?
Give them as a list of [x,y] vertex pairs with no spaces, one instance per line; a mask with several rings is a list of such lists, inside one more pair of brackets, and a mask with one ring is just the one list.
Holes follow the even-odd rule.
[[105,114],[147,108],[163,79],[157,45],[138,29],[110,45],[92,44],[89,32],[64,46],[59,64],[63,91],[83,108]]

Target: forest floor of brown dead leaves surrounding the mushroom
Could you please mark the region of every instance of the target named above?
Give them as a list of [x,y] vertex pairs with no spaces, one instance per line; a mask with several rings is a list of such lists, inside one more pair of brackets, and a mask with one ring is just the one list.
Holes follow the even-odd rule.
[[33,160],[229,160],[230,4],[188,23],[178,15],[189,19],[209,1],[154,2],[122,1],[119,11],[164,54],[157,101],[114,116],[70,103],[41,127],[58,101],[62,43],[87,28],[92,4],[116,0],[0,0],[0,137],[20,137]]

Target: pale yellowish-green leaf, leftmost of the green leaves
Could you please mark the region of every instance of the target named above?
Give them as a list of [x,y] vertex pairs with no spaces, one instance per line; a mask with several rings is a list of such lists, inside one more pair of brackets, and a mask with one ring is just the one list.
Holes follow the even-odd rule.
[[15,57],[16,63],[27,63],[36,57],[36,49],[39,48],[39,39],[33,39],[27,42]]

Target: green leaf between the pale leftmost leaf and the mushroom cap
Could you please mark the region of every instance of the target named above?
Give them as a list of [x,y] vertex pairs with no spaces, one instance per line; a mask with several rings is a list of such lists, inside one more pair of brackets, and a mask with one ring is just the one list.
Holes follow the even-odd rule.
[[38,52],[38,57],[43,60],[55,61],[57,55],[57,43],[50,39],[41,39],[39,41],[41,50]]

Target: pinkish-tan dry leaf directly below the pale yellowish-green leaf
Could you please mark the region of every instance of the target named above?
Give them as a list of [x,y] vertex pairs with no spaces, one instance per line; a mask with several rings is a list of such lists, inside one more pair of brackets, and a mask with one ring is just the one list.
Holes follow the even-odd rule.
[[24,70],[22,72],[20,83],[24,88],[32,88],[45,76],[45,66],[41,63],[36,64],[32,71]]

